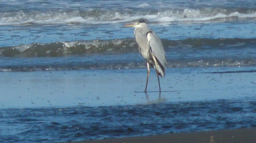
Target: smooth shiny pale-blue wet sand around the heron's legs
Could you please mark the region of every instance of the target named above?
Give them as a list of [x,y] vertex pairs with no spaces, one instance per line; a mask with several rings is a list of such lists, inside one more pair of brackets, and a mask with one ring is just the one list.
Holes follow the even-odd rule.
[[115,106],[244,99],[255,96],[255,72],[169,68],[161,78],[146,69],[0,72],[0,108]]

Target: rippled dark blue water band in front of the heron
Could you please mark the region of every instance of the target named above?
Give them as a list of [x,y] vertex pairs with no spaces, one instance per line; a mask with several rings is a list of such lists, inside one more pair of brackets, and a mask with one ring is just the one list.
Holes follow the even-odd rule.
[[67,142],[256,127],[255,99],[0,110],[0,142]]

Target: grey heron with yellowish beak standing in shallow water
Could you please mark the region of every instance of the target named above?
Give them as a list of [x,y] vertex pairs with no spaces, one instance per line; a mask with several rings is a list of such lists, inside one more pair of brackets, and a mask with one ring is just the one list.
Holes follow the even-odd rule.
[[139,45],[139,52],[147,61],[147,82],[144,92],[147,92],[148,76],[150,74],[149,65],[154,67],[157,72],[159,92],[161,92],[159,75],[162,78],[165,76],[167,66],[165,50],[161,39],[152,29],[148,28],[144,19],[139,19],[138,22],[125,25],[125,27],[135,27],[134,35]]

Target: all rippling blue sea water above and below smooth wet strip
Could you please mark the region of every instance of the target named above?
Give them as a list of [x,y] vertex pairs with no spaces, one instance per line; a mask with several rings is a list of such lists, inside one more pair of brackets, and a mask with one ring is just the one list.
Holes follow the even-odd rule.
[[[169,69],[256,72],[255,0],[0,3],[0,72],[146,68],[134,28],[124,27],[139,18],[146,19],[161,38]],[[255,98],[0,108],[0,142],[66,142],[248,128],[256,127],[255,114]]]

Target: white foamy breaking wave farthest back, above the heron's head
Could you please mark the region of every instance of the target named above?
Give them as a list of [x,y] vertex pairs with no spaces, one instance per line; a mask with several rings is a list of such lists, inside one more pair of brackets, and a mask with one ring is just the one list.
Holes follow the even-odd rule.
[[[143,6],[143,5],[141,5]],[[49,11],[10,11],[0,12],[0,25],[12,24],[102,24],[124,23],[139,18],[149,22],[172,21],[229,21],[233,19],[255,18],[253,8],[184,8],[184,9],[146,9],[145,11],[124,9],[105,10],[49,10]]]

